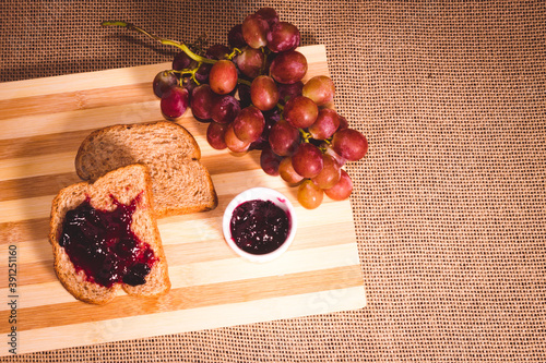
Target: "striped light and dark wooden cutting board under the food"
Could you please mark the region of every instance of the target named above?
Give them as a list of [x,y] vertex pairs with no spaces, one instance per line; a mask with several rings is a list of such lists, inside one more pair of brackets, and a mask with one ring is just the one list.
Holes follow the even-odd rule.
[[[329,74],[323,46],[301,52],[309,62],[306,78]],[[158,220],[170,293],[161,299],[120,293],[114,303],[95,306],[62,288],[47,241],[51,201],[79,181],[74,156],[93,130],[163,119],[151,81],[169,68],[162,63],[0,84],[1,355],[13,348],[26,353],[366,305],[351,202],[325,197],[314,210],[302,208],[296,189],[260,169],[259,152],[234,156],[211,148],[206,124],[190,110],[178,122],[200,145],[219,204],[212,211]],[[241,259],[222,234],[225,207],[252,186],[285,194],[299,223],[288,252],[266,264]]]

